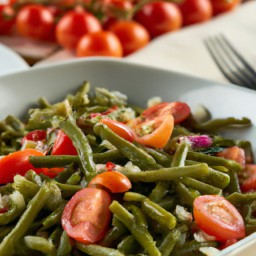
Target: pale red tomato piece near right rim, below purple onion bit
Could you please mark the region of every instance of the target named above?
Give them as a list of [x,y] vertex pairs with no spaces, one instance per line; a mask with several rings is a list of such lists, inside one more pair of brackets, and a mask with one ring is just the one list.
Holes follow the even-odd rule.
[[245,166],[245,153],[242,148],[237,146],[225,148],[224,150],[216,154],[218,157],[224,157],[226,159],[234,160],[242,167]]

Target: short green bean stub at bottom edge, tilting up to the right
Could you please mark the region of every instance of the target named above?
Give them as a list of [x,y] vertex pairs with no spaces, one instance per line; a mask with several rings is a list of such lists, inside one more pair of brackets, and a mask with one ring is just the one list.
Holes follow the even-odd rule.
[[168,235],[163,239],[159,250],[162,256],[169,256],[174,248],[174,245],[178,241],[181,232],[179,229],[171,230]]

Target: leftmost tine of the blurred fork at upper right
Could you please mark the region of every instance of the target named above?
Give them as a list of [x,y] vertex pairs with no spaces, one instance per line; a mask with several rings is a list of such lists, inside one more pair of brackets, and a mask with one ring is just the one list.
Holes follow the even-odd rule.
[[[215,42],[214,38],[208,38],[204,41],[210,55],[212,56],[214,62],[222,72],[222,74],[234,84],[244,84],[244,81],[240,77],[231,71],[229,63],[223,58],[223,53],[220,52],[218,45]],[[248,87],[248,85],[246,85]]]

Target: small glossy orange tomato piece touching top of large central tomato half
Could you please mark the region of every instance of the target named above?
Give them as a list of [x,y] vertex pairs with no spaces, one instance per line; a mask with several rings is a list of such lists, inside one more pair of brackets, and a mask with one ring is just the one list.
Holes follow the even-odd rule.
[[88,186],[91,187],[93,185],[103,186],[112,193],[123,193],[132,187],[130,180],[117,171],[106,171],[96,175]]

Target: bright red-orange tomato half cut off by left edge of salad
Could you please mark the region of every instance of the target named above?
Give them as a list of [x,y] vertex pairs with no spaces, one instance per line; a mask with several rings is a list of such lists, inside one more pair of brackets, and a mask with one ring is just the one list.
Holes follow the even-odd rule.
[[0,184],[13,182],[16,174],[24,175],[29,170],[34,170],[36,173],[44,172],[46,168],[35,168],[29,162],[29,156],[43,155],[41,151],[27,148],[0,158]]

